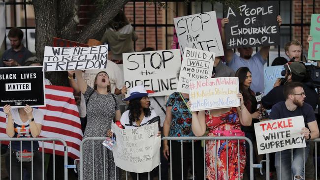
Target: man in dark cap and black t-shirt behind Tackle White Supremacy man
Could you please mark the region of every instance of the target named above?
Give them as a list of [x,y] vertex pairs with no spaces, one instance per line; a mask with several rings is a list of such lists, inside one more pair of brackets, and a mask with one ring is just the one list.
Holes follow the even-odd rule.
[[[284,85],[289,82],[302,82],[305,77],[306,68],[303,62],[288,62],[284,67],[285,70],[281,72],[285,76],[282,79],[282,85],[274,87],[261,99],[261,104],[265,109],[271,109],[274,104],[286,100],[286,97],[282,93]],[[303,88],[305,90],[306,103],[310,104],[313,110],[315,110],[318,105],[317,91],[306,85],[303,85]]]

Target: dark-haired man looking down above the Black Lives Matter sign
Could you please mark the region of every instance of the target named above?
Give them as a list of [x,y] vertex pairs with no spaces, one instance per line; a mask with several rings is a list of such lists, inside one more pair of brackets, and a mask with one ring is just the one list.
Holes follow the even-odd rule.
[[8,33],[11,48],[6,50],[0,59],[0,67],[21,66],[25,60],[32,57],[32,53],[23,46],[23,32],[19,28],[12,28]]

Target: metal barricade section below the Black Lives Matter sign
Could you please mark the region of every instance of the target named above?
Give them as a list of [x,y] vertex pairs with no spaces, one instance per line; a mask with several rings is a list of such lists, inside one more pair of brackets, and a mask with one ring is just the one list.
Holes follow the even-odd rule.
[[[67,170],[67,163],[68,163],[68,150],[67,150],[67,145],[66,145],[66,142],[64,141],[64,140],[62,140],[62,139],[60,139],[60,138],[0,138],[0,145],[1,145],[1,142],[2,141],[9,141],[9,146],[8,146],[8,150],[9,150],[9,177],[10,177],[10,180],[11,180],[11,178],[12,178],[12,173],[14,173],[14,172],[12,172],[12,167],[11,167],[11,163],[12,163],[12,161],[11,161],[11,159],[12,159],[12,157],[11,157],[11,153],[12,153],[12,149],[11,149],[11,142],[12,141],[20,141],[20,151],[23,151],[22,150],[22,142],[26,142],[26,141],[31,141],[31,142],[33,142],[33,141],[36,141],[36,143],[38,143],[39,142],[39,145],[40,145],[40,143],[42,143],[42,148],[40,148],[40,149],[42,149],[42,180],[44,180],[45,179],[45,171],[44,171],[44,147],[43,147],[43,144],[44,144],[44,142],[45,141],[53,141],[53,179],[55,180],[55,141],[59,141],[59,142],[61,142],[62,144],[63,144],[63,146],[64,146],[64,180],[67,180],[68,179],[68,170]],[[32,164],[32,170],[31,170],[31,179],[33,180],[34,178],[33,178],[33,143],[31,143],[31,149],[32,149],[32,153],[31,153],[31,158],[32,158],[32,160],[31,160],[31,164]],[[20,156],[21,157],[21,159],[20,159],[20,179],[22,180],[23,179],[23,168],[22,168],[22,155]],[[0,161],[1,161],[1,156],[0,156]],[[0,163],[0,169],[1,169],[1,163]],[[1,174],[0,174],[0,179],[1,179]]]

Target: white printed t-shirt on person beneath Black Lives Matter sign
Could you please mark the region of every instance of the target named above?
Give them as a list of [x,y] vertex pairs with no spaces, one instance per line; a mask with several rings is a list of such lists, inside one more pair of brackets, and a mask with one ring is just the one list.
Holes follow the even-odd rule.
[[[32,108],[32,116],[34,122],[37,124],[43,124],[43,114],[40,110]],[[18,108],[11,109],[12,119],[13,119],[13,126],[14,126],[14,136],[15,138],[31,138],[31,130],[30,130],[30,120],[26,122],[22,122]],[[11,142],[13,150],[20,150],[20,142],[19,141],[12,141]],[[39,148],[39,144],[37,141],[33,142],[33,150]],[[22,150],[31,151],[31,142],[22,142]]]

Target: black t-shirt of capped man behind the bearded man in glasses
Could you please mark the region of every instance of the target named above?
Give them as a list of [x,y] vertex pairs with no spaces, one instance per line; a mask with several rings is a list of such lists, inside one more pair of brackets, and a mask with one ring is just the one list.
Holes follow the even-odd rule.
[[[271,109],[273,105],[280,101],[285,101],[286,98],[283,94],[284,86],[277,86],[270,90],[265,96],[262,97],[261,103],[265,109]],[[304,102],[311,105],[315,111],[318,105],[318,94],[314,88],[304,85],[303,90],[305,91],[306,98]]]

